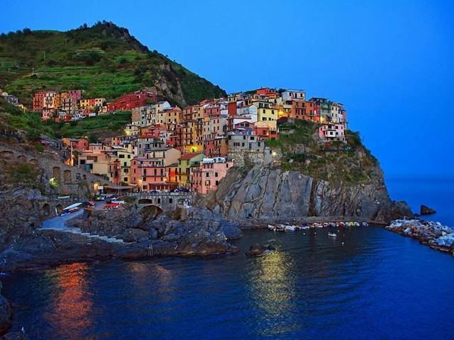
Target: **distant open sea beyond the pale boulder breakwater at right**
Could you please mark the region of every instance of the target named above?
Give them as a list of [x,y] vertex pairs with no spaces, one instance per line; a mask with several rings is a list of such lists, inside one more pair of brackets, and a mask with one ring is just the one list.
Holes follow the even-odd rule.
[[454,176],[392,177],[386,178],[389,196],[394,200],[406,200],[413,212],[419,213],[421,204],[435,209],[435,215],[422,217],[454,227]]

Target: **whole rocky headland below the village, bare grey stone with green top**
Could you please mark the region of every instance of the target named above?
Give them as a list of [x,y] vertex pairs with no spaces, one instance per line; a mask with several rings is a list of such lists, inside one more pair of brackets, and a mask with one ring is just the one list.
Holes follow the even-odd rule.
[[272,164],[232,169],[211,200],[229,218],[274,220],[330,217],[387,222],[413,216],[406,203],[393,202],[377,159],[346,132],[345,142],[321,143],[319,125],[297,120],[279,125],[269,141]]

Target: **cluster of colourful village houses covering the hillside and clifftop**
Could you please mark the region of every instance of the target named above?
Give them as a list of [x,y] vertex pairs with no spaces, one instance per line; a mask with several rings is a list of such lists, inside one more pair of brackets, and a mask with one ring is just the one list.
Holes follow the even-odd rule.
[[[33,94],[31,110],[43,121],[56,122],[131,111],[124,134],[95,143],[88,138],[43,139],[43,145],[67,148],[68,165],[104,176],[125,191],[216,191],[234,165],[243,166],[248,159],[273,162],[275,153],[265,142],[279,139],[278,122],[309,120],[319,123],[320,142],[345,142],[343,104],[306,100],[302,90],[262,88],[186,108],[159,101],[150,91],[124,94],[110,103],[82,93],[40,91]],[[26,110],[16,96],[1,90],[0,95]]]

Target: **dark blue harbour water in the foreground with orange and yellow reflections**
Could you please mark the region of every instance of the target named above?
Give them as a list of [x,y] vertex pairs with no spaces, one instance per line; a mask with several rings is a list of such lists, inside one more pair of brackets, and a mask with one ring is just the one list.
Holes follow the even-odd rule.
[[[233,256],[19,273],[4,294],[31,339],[453,339],[452,256],[381,227],[327,233],[255,230]],[[256,242],[279,250],[244,256]]]

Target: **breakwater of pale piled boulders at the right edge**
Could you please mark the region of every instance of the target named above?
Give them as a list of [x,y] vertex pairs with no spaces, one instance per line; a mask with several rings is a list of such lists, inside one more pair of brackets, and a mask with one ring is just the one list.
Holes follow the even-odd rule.
[[454,227],[425,220],[394,220],[386,227],[405,237],[418,239],[432,249],[454,255]]

